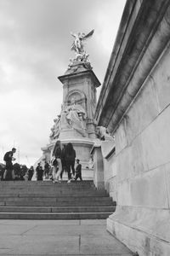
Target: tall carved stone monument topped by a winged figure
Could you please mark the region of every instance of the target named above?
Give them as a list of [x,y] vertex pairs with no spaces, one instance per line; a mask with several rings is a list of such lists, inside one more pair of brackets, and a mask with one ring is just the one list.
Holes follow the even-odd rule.
[[94,178],[94,170],[89,166],[89,162],[90,151],[97,137],[94,112],[96,88],[100,83],[84,49],[84,41],[93,33],[94,30],[88,34],[71,32],[74,38],[71,50],[74,51],[75,57],[70,59],[65,74],[58,77],[63,84],[63,103],[59,115],[54,119],[49,144],[42,148],[44,159],[50,160],[57,139],[62,144],[72,143],[77,152],[77,159],[82,163],[83,179]]

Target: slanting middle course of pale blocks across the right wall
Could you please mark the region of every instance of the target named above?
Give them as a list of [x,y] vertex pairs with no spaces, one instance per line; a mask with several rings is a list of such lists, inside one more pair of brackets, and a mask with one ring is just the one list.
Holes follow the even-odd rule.
[[[122,181],[164,165],[170,159],[170,108],[166,108],[133,143],[116,154],[117,177]],[[150,143],[148,143],[150,142]]]

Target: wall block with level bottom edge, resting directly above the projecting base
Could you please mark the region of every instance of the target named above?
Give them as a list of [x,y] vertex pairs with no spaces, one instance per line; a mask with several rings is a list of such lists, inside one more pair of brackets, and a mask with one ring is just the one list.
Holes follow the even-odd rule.
[[164,167],[158,167],[119,183],[118,204],[122,206],[168,208]]

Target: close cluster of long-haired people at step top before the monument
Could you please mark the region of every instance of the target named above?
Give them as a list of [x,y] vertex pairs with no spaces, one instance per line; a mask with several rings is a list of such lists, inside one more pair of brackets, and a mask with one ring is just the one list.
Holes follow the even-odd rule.
[[53,150],[53,179],[54,183],[60,183],[60,179],[62,179],[63,172],[67,172],[68,181],[67,183],[71,183],[71,180],[74,179],[77,181],[77,178],[80,178],[82,181],[82,165],[80,164],[80,160],[77,159],[77,166],[75,168],[76,161],[76,151],[72,146],[72,143],[68,143],[63,146],[61,149],[61,143],[58,140],[54,145]]

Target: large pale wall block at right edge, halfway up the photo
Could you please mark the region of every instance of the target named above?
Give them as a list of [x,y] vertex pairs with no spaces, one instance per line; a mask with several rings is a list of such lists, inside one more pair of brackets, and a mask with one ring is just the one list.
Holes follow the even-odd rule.
[[170,160],[170,107],[166,108],[141,134],[144,170]]

